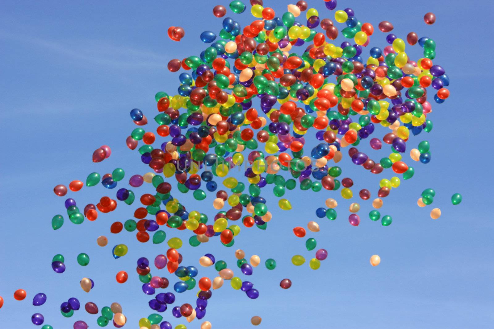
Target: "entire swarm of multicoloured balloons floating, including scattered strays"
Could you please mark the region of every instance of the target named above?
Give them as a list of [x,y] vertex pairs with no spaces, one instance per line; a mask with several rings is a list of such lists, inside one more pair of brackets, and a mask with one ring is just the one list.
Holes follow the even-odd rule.
[[[346,157],[345,147],[353,165],[374,175],[390,174],[375,186],[377,198],[372,200],[374,210],[369,217],[373,221],[381,219],[383,226],[391,224],[391,216],[381,217],[377,209],[382,207],[383,198],[392,188],[400,186],[400,178],[409,180],[413,177],[414,168],[404,159],[407,142],[412,135],[432,130],[429,101],[445,102],[449,97],[446,87],[450,79],[444,68],[433,63],[436,42],[432,38],[410,32],[405,41],[390,33],[394,29],[391,22],[382,21],[377,28],[386,34],[387,45],[371,47],[371,36],[375,36],[371,23],[359,20],[351,8],[336,10],[336,0],[325,1],[325,6],[334,10],[333,17],[324,18],[304,0],[288,4],[287,11],[277,16],[273,8],[263,5],[262,0],[250,0],[254,20],[246,26],[225,17],[227,7],[214,6],[213,15],[221,18],[219,31],[204,31],[199,36],[205,44],[202,51],[181,60],[172,59],[167,65],[170,72],[182,72],[178,76],[175,95],[163,91],[155,95],[156,132],[143,128],[148,119],[142,110],[130,111],[130,117],[138,127],[126,138],[126,145],[131,150],[137,149],[140,161],[151,169],[144,175],[131,176],[128,183],[132,188],[152,185],[152,190],[140,196],[140,204],[133,208],[133,218],[114,221],[110,225],[112,234],[135,232],[139,242],[151,240],[153,244],[162,244],[167,235],[177,232],[176,229],[189,232],[188,243],[192,247],[210,239],[232,247],[242,228],[267,228],[272,214],[266,195],[271,194],[271,190],[278,198],[278,207],[287,211],[292,206],[284,196],[287,190],[297,186],[302,191],[324,191],[339,194],[345,200],[352,199],[354,180],[345,177],[344,168],[336,165]],[[234,0],[228,8],[232,13],[240,14],[246,11],[247,5]],[[435,20],[433,13],[424,16],[426,24],[433,24]],[[181,27],[171,26],[167,34],[170,39],[180,41],[185,32]],[[337,37],[344,40],[334,41]],[[417,60],[409,57],[406,43],[411,46],[418,43],[423,48],[423,57]],[[381,129],[385,132],[380,132]],[[163,140],[160,145],[153,146],[157,135]],[[362,151],[365,139],[369,141],[369,152]],[[371,158],[370,152],[383,146],[389,147],[389,155]],[[428,163],[429,147],[427,141],[420,142],[410,151],[410,157]],[[92,161],[101,162],[110,155],[110,147],[104,145],[94,151]],[[235,167],[243,178],[234,177]],[[115,189],[124,176],[122,168],[103,176],[93,172],[88,175],[86,186],[101,182],[108,190]],[[74,192],[82,187],[82,181],[69,184]],[[57,196],[65,196],[68,189],[65,185],[57,185],[53,191]],[[190,193],[197,201],[212,195],[215,214],[209,219],[203,212],[186,209],[177,198],[179,193]],[[358,195],[363,201],[371,200],[370,189],[363,188]],[[429,205],[434,196],[435,191],[428,188],[417,203]],[[454,194],[453,205],[459,204],[461,199],[460,194]],[[114,211],[119,201],[133,205],[134,192],[124,187],[117,189],[115,199],[102,196],[96,205],[86,205],[82,213],[72,198],[65,200],[65,207],[69,219],[81,224],[84,218],[96,220],[98,212]],[[328,198],[325,205],[326,208],[316,210],[316,216],[336,219],[337,201]],[[358,202],[349,206],[351,225],[360,224],[360,210]],[[435,208],[430,216],[437,219],[441,211]],[[63,223],[63,216],[56,215],[51,225],[57,230]],[[307,229],[309,232],[320,231],[319,224],[313,220],[307,223]],[[293,234],[305,238],[307,231],[305,227],[296,226]],[[99,236],[97,244],[107,246],[108,238]],[[148,305],[157,312],[139,320],[141,329],[172,329],[161,315],[168,308],[174,318],[184,317],[188,323],[203,319],[212,290],[221,288],[225,280],[230,281],[234,290],[245,292],[248,298],[258,298],[259,291],[253,288],[253,283],[240,276],[254,274],[254,267],[261,263],[259,256],[252,255],[247,260],[243,250],[236,250],[241,274],[235,276],[224,260],[216,261],[212,254],[205,254],[199,258],[199,264],[202,267],[214,265],[218,272],[211,280],[198,276],[199,269],[195,266],[182,265],[183,257],[178,252],[183,245],[182,239],[171,237],[166,244],[169,249],[165,255],[155,257],[154,266],[166,268],[176,277],[171,287],[170,279],[151,274],[148,258],[137,259],[136,272],[142,292],[152,296]],[[315,238],[305,240],[307,251],[312,252],[316,247]],[[123,243],[112,248],[115,259],[127,252],[128,247]],[[321,261],[327,257],[327,250],[318,249],[315,257],[309,260],[309,267],[320,268]],[[63,273],[66,269],[64,261],[64,256],[54,256],[52,269]],[[81,253],[77,261],[86,266],[89,256]],[[291,258],[295,266],[305,261],[303,255]],[[380,257],[373,255],[370,262],[377,266]],[[268,270],[274,270],[277,263],[269,258],[264,265]],[[122,270],[115,278],[119,284],[124,284],[129,275]],[[291,285],[288,278],[280,282],[282,289]],[[94,282],[84,277],[80,286],[84,292],[90,292]],[[160,289],[163,290],[158,291]],[[197,289],[195,307],[192,306],[194,302],[173,306],[176,293]],[[23,290],[14,293],[17,300],[25,297]],[[45,301],[46,295],[39,293],[34,297],[33,305],[42,305]],[[2,304],[0,297],[0,307]],[[70,298],[60,306],[62,315],[67,318],[79,308],[77,298]],[[103,307],[101,312],[93,302],[87,302],[84,308],[89,314],[100,314],[96,320],[100,327],[113,322],[114,327],[121,328],[126,323],[118,303]],[[36,313],[32,322],[41,325],[44,318]],[[260,323],[260,317],[251,318],[252,325]],[[74,329],[87,327],[83,321],[74,323]],[[210,328],[208,321],[201,324],[201,329]],[[52,328],[44,326],[43,329]],[[175,329],[186,327],[178,325]]]

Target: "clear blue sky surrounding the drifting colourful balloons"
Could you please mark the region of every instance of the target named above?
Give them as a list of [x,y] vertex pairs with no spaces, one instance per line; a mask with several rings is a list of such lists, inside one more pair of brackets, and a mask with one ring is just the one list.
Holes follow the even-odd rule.
[[[166,70],[167,62],[198,55],[206,47],[200,41],[201,32],[218,33],[221,28],[222,19],[212,15],[212,7],[218,3],[188,2],[3,3],[0,295],[5,303],[0,309],[0,323],[5,328],[31,328],[34,313],[42,313],[45,324],[56,329],[72,328],[77,320],[97,327],[97,316],[83,309],[70,319],[62,317],[59,305],[70,297],[79,298],[82,304],[93,301],[100,309],[120,302],[128,319],[125,328],[137,328],[139,318],[153,313],[147,306],[150,298],[141,292],[134,272],[135,260],[140,256],[154,259],[165,253],[167,246],[140,244],[128,232],[112,235],[111,223],[131,218],[135,209],[123,203],[113,213],[100,214],[95,222],[85,221],[76,226],[66,218],[65,225],[53,231],[51,218],[66,213],[65,198],[55,196],[52,189],[59,183],[85,181],[91,172],[104,174],[117,167],[126,172],[126,178],[119,183],[121,187],[131,175],[149,171],[140,163],[137,151],[125,146],[126,136],[135,128],[128,112],[133,108],[143,110],[150,119],[145,129],[155,130],[155,93],[175,94],[179,84],[178,73]],[[321,18],[333,18],[334,12],[329,12],[323,1],[308,2],[309,7],[319,10]],[[223,4],[227,6],[228,2]],[[288,2],[264,4],[281,16]],[[488,212],[493,157],[488,141],[491,129],[475,111],[489,107],[486,99],[491,93],[489,81],[493,71],[486,54],[494,50],[488,41],[493,4],[420,0],[413,4],[395,1],[378,5],[338,1],[337,9],[346,7],[353,8],[362,22],[374,25],[372,45],[386,45],[386,34],[377,30],[382,20],[391,21],[395,26],[393,33],[399,37],[405,38],[408,32],[415,31],[419,36],[436,40],[434,63],[443,66],[450,76],[451,96],[442,105],[432,103],[433,131],[411,138],[407,145],[416,147],[427,139],[432,161],[427,165],[413,163],[407,152],[405,159],[413,163],[416,174],[412,180],[402,181],[385,199],[381,214],[393,217],[388,227],[368,218],[370,201],[343,201],[337,192],[314,194],[294,190],[286,194],[293,210],[282,212],[271,196],[268,206],[271,205],[273,220],[268,229],[243,228],[233,248],[224,248],[216,240],[195,249],[182,247],[183,264],[199,267],[199,257],[211,253],[216,259],[225,260],[243,280],[253,282],[260,292],[258,299],[250,300],[225,283],[213,292],[204,320],[210,321],[213,328],[250,328],[253,315],[262,317],[263,328],[489,328],[494,322],[494,224]],[[229,10],[227,16],[245,26],[253,19],[247,11],[236,15]],[[437,16],[432,26],[422,20],[428,11]],[[184,39],[171,41],[166,36],[169,26],[183,27]],[[418,58],[419,52],[418,45],[407,47],[407,53],[414,58]],[[367,56],[368,50],[364,54]],[[385,132],[381,128],[376,137]],[[101,163],[91,163],[92,151],[103,144],[112,147],[112,156]],[[367,141],[361,145],[364,144],[362,149],[369,149]],[[369,154],[380,158],[386,152]],[[378,181],[392,176],[363,172],[346,155],[341,164],[342,177],[352,177],[355,182],[354,194],[366,187],[373,198]],[[420,192],[428,187],[436,190],[432,206],[442,210],[438,220],[429,217],[433,207],[416,205]],[[140,195],[151,190],[148,185],[136,192]],[[99,184],[77,193],[69,192],[67,197],[76,199],[82,209],[114,192]],[[450,198],[455,192],[463,195],[463,202],[453,207]],[[270,187],[263,194],[270,195]],[[317,219],[315,209],[324,207],[324,200],[334,195],[339,200],[338,218]],[[212,219],[212,196],[202,203],[189,194],[175,196],[188,210],[206,212]],[[361,204],[362,221],[358,227],[347,220],[348,205],[354,201]],[[305,239],[295,238],[291,231],[294,226],[305,226],[309,220],[318,221],[321,231],[308,236],[316,238],[317,248],[329,251],[329,257],[317,271],[307,263],[300,267],[290,263],[291,256],[296,254],[307,260],[313,257],[313,252],[305,250]],[[108,236],[107,247],[96,245],[99,235]],[[190,234],[167,233],[168,238],[172,236],[185,242]],[[111,246],[118,243],[126,243],[129,253],[115,260]],[[248,256],[259,255],[262,262],[274,258],[278,266],[274,271],[259,266],[254,268],[252,277],[246,277],[235,264],[237,248],[245,250]],[[87,267],[77,264],[76,257],[82,252],[91,258]],[[58,253],[65,256],[67,265],[67,271],[61,275],[55,274],[50,266],[51,258]],[[369,264],[373,254],[381,256],[377,267]],[[212,268],[199,269],[200,277],[216,276]],[[129,273],[124,285],[115,281],[120,270]],[[152,271],[174,283],[165,272]],[[89,294],[78,285],[82,277],[95,281]],[[284,278],[293,282],[289,290],[279,287]],[[12,294],[20,288],[28,292],[28,297],[15,301]],[[46,293],[48,301],[35,307],[31,301],[38,292]],[[193,292],[178,295],[176,304],[194,304],[194,296]],[[186,324],[183,318],[172,318],[170,310],[165,312],[165,320],[173,326]],[[188,326],[198,327],[197,320]]]

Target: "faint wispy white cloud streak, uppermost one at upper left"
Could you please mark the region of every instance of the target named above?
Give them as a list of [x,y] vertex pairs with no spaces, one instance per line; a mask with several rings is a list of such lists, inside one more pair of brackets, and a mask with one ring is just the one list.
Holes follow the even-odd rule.
[[[102,65],[117,68],[164,68],[170,60],[162,54],[143,51],[122,45],[112,45],[102,40],[48,40],[40,37],[0,31],[0,39],[9,40],[44,51],[58,53],[81,64]],[[8,47],[4,48],[8,51]]]

